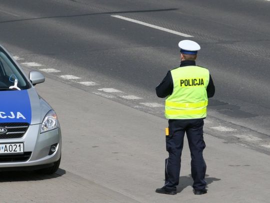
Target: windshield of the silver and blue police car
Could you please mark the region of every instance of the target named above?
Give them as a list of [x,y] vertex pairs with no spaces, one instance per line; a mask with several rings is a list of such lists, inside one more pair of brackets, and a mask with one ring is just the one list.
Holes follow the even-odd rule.
[[0,48],[0,91],[28,89],[30,85],[4,50]]

